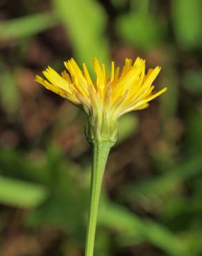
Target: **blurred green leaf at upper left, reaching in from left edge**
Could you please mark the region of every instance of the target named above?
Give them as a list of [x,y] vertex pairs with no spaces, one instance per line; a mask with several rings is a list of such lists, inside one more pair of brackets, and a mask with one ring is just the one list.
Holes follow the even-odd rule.
[[57,24],[58,21],[53,12],[3,21],[0,24],[0,39],[30,37]]

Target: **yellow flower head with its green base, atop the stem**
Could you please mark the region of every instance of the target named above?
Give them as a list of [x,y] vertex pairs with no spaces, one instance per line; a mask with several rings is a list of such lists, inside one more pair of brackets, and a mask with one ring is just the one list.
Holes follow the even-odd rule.
[[134,64],[126,58],[121,73],[120,67],[115,68],[114,62],[111,62],[110,75],[105,65],[101,66],[94,58],[95,81],[91,80],[86,64],[83,63],[82,70],[73,59],[64,62],[64,65],[68,72],[63,71],[59,75],[48,66],[43,71],[47,80],[37,75],[36,81],[86,111],[91,141],[110,140],[114,143],[118,118],[129,111],[145,109],[149,101],[167,90],[154,92],[152,83],[160,67],[149,68],[145,74],[145,60],[140,57]]

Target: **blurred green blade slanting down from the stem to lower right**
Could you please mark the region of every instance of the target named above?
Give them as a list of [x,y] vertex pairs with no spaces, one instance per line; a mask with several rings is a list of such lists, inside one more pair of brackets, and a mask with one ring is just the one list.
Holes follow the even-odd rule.
[[114,203],[104,202],[100,206],[99,223],[118,230],[120,241],[124,244],[133,245],[137,241],[149,241],[168,255],[190,255],[186,244],[164,226],[149,219],[140,219],[136,214]]

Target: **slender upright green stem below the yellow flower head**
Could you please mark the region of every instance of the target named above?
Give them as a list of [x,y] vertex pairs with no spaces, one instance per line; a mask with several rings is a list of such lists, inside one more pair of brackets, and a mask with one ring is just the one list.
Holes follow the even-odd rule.
[[107,157],[112,144],[107,141],[94,143],[93,166],[91,172],[91,203],[89,209],[89,225],[86,235],[85,256],[93,256],[96,222],[98,217],[98,205],[102,178],[107,163]]

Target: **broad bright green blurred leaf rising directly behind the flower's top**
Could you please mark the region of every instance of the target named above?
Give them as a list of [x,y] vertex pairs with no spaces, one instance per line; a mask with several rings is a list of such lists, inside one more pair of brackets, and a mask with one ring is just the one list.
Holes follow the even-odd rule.
[[96,1],[53,0],[58,18],[71,37],[75,57],[91,64],[93,57],[109,62],[109,48],[104,37],[107,15]]

